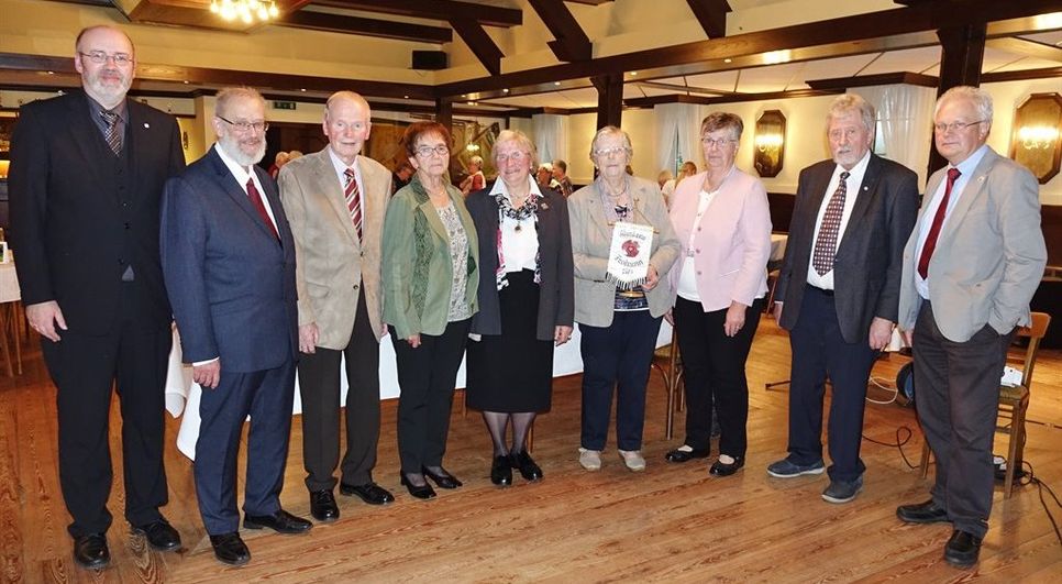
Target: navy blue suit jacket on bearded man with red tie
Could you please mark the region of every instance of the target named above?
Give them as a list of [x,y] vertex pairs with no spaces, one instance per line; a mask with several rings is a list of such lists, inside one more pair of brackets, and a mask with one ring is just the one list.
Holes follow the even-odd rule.
[[253,167],[280,240],[214,145],[166,183],[162,256],[186,363],[221,357],[248,373],[295,359],[295,240],[268,173]]

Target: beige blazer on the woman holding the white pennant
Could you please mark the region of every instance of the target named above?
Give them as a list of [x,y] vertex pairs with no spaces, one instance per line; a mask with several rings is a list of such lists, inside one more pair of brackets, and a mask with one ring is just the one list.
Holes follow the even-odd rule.
[[[602,195],[591,183],[568,197],[572,221],[572,253],[575,256],[575,321],[590,327],[612,324],[616,285],[605,279],[612,227],[605,218]],[[653,250],[649,263],[656,267],[660,284],[645,293],[649,311],[663,316],[675,300],[667,271],[678,258],[682,244],[675,236],[667,208],[656,183],[631,177],[631,221],[653,225]]]

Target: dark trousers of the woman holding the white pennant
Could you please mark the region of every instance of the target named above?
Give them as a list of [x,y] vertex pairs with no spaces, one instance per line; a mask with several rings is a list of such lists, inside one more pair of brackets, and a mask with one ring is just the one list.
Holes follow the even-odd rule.
[[616,398],[616,445],[641,450],[645,427],[645,385],[653,363],[660,317],[649,310],[616,312],[608,327],[579,324],[583,354],[582,447],[605,450]]

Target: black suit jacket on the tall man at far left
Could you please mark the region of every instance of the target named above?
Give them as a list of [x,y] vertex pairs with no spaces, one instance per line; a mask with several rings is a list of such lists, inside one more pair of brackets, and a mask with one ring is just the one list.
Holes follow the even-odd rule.
[[[103,334],[122,311],[146,328],[170,322],[158,260],[159,200],[185,166],[177,122],[126,100],[114,154],[80,92],[22,107],[11,148],[12,247],[22,300],[58,302],[70,331]],[[134,282],[122,274],[132,266]],[[132,311],[132,312],[131,312]]]

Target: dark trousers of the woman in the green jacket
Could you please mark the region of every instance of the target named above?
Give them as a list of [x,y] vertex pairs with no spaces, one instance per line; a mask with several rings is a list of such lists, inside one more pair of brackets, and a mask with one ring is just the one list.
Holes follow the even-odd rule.
[[413,349],[390,327],[398,365],[398,455],[402,472],[442,466],[450,433],[457,370],[465,354],[472,319],[446,324],[442,334],[420,335]]

